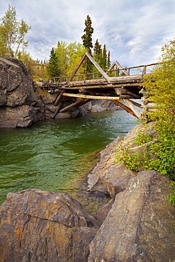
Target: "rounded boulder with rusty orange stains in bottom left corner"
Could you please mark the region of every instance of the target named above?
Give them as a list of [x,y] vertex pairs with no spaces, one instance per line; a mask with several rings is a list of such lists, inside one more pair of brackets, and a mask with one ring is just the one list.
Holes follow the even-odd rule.
[[0,207],[1,261],[84,262],[97,220],[66,193],[9,193]]

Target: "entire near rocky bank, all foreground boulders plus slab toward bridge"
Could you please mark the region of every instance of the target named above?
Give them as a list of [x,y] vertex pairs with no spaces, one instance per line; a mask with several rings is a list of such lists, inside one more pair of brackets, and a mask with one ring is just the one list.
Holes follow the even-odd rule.
[[[154,135],[152,123],[146,128]],[[132,172],[115,162],[118,145],[132,144],[142,129],[143,125],[134,127],[101,151],[101,160],[88,176],[88,190],[108,194],[111,200],[95,217],[65,193],[9,193],[0,210],[4,261],[20,256],[25,261],[174,262],[175,209],[167,198],[169,178],[157,171]],[[5,237],[7,231],[10,237]]]

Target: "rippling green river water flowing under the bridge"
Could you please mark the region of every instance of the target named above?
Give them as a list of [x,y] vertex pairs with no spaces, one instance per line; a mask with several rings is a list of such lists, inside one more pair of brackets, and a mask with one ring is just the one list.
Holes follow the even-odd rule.
[[93,164],[94,152],[125,135],[135,121],[118,110],[0,129],[0,205],[7,193],[28,188],[67,192],[89,210],[105,203],[83,195],[79,181]]

